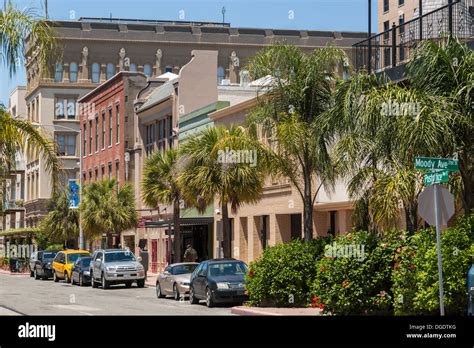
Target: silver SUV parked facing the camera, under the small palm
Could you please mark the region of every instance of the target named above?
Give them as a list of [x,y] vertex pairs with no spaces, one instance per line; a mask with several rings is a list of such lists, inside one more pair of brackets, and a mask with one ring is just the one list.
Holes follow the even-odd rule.
[[93,288],[102,285],[108,289],[111,284],[125,284],[127,287],[137,282],[139,288],[145,286],[145,269],[130,250],[101,249],[92,255],[90,264],[91,283]]

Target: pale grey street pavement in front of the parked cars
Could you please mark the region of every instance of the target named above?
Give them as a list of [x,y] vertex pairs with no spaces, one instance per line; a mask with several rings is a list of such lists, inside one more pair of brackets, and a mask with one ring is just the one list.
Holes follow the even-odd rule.
[[0,274],[0,315],[231,315],[231,306],[207,308],[172,298],[158,299],[155,288],[79,287],[63,281]]

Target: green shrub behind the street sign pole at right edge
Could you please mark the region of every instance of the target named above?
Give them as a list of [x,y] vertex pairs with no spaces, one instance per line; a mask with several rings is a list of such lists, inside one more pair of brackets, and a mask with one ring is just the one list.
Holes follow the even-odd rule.
[[[466,276],[473,262],[474,215],[441,233],[446,314],[465,314]],[[409,237],[392,274],[397,315],[438,314],[439,282],[436,231],[424,229]]]

